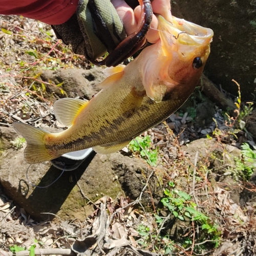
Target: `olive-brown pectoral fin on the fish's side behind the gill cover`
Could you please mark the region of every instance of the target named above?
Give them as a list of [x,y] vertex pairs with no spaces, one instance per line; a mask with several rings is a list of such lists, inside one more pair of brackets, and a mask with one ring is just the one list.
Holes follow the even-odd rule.
[[123,117],[132,117],[140,107],[145,95],[145,91],[137,91],[135,88],[133,88],[133,90],[123,99],[121,103]]

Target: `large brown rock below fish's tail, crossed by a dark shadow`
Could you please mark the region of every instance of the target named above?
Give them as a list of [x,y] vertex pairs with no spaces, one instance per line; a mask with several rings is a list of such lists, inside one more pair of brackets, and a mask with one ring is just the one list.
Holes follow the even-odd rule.
[[[12,128],[7,128],[5,137],[13,140],[14,133]],[[36,220],[48,218],[42,212],[52,212],[61,219],[77,218],[81,221],[91,214],[93,205],[82,196],[77,180],[83,193],[93,202],[104,195],[115,199],[118,195],[126,194],[135,200],[140,195],[148,175],[152,173],[141,159],[126,157],[120,153],[94,154],[76,170],[64,172],[53,185],[46,188],[33,187],[31,183],[41,187],[51,184],[59,177],[61,170],[56,169],[50,162],[30,166],[24,161],[23,151],[24,148],[15,150],[9,147],[0,152],[0,182],[5,193]],[[26,177],[27,169],[31,183]],[[161,180],[161,177],[158,179]],[[158,179],[153,176],[149,182],[155,204],[158,203],[162,191]],[[152,205],[148,190],[147,188],[142,196],[144,207]]]

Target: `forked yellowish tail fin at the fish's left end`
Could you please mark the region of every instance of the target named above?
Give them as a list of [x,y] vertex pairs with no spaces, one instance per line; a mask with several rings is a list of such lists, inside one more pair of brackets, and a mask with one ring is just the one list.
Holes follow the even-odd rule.
[[45,136],[50,134],[49,132],[20,122],[15,122],[12,126],[18,134],[26,139],[24,158],[27,163],[41,163],[58,157],[50,154],[46,148]]

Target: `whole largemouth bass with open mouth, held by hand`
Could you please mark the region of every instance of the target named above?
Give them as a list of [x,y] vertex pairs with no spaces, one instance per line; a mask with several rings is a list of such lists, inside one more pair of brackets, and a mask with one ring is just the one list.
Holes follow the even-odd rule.
[[184,19],[158,16],[160,39],[127,66],[109,68],[103,88],[90,101],[54,103],[56,119],[68,126],[49,133],[13,123],[27,141],[28,163],[93,147],[100,154],[121,150],[133,138],[174,113],[194,91],[210,53],[213,32]]

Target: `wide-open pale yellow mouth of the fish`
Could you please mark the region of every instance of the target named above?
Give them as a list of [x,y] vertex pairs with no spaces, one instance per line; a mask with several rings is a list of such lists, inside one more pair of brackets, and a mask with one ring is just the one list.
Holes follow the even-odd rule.
[[167,21],[159,15],[158,20],[159,29],[162,31],[167,29],[182,45],[207,45],[214,35],[214,32],[209,28],[204,28],[175,16],[170,17]]

